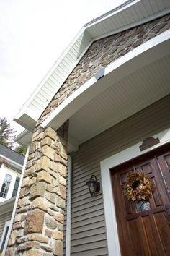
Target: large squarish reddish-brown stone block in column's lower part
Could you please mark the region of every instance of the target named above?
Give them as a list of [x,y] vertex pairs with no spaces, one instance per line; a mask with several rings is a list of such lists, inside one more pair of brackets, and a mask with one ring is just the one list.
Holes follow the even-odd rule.
[[44,214],[42,210],[33,210],[28,213],[24,226],[24,234],[42,233]]

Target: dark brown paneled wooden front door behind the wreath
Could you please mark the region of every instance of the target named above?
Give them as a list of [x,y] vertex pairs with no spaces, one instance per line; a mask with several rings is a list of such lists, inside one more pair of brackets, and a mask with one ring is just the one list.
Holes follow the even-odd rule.
[[[134,170],[147,174],[156,187],[145,210],[123,192]],[[111,175],[121,255],[170,255],[170,146],[112,168]]]

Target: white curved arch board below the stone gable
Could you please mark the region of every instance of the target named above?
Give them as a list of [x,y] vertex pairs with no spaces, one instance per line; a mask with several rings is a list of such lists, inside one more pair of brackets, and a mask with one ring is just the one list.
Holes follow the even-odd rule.
[[[48,118],[42,122],[41,126],[58,129],[76,111],[110,85],[146,64],[166,56],[170,51],[169,38],[170,30],[167,30],[109,64],[104,69],[104,77],[98,81],[95,77],[91,77],[90,80],[63,101],[58,108],[55,108]],[[158,51],[159,47],[161,47],[161,51]],[[104,86],[103,80],[105,80]]]

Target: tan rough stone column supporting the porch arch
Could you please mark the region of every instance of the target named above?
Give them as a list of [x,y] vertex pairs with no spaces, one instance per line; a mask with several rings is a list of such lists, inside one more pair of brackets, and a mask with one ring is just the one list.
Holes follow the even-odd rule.
[[67,137],[68,122],[34,132],[6,255],[63,255]]

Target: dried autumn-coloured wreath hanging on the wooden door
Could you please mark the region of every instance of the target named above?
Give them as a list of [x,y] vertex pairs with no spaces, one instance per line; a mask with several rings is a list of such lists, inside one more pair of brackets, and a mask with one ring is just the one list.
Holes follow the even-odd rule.
[[125,195],[128,200],[148,201],[154,190],[151,179],[143,173],[128,173],[128,180],[125,184]]

